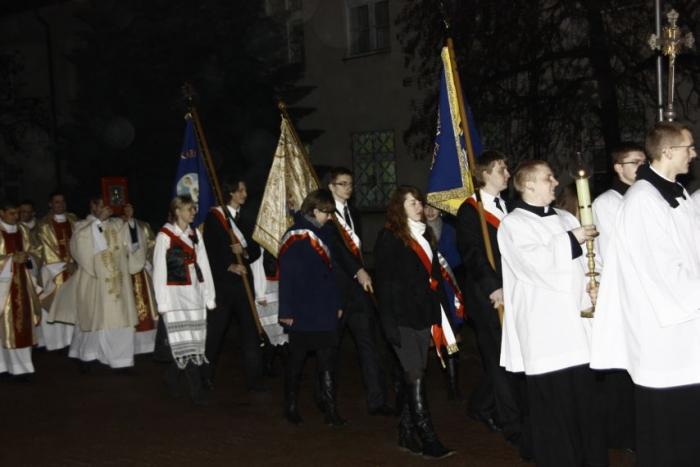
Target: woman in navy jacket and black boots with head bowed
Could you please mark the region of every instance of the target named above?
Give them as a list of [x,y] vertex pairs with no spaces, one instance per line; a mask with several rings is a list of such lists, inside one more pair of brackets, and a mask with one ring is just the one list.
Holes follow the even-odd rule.
[[340,293],[331,269],[326,233],[322,231],[334,211],[327,190],[306,196],[296,222],[282,237],[279,252],[279,320],[289,331],[289,358],[285,370],[285,417],[301,423],[297,407],[304,359],[316,351],[325,422],[346,422],[336,407],[335,365],[338,323],[342,316]]

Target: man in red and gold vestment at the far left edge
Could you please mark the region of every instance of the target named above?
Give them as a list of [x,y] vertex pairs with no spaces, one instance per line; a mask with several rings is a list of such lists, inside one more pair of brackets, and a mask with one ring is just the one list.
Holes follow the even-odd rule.
[[0,205],[0,373],[34,372],[32,346],[41,306],[30,272],[37,252],[29,229],[19,222],[17,206]]

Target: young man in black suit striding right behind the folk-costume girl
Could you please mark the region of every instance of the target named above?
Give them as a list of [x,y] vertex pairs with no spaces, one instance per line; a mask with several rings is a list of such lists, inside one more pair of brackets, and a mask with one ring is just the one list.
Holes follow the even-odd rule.
[[[209,360],[204,374],[205,385],[213,386],[214,374],[223,349],[226,332],[232,319],[239,326],[238,341],[243,353],[246,385],[248,390],[263,391],[263,355],[251,310],[243,284],[243,276],[252,281],[249,263],[260,256],[260,247],[253,242],[252,232],[255,213],[244,215],[243,205],[248,193],[241,178],[232,178],[222,185],[227,197],[227,216],[221,207],[212,208],[204,221],[204,244],[209,256],[214,286],[216,288],[216,309],[207,313],[206,356]],[[237,242],[232,244],[230,231]],[[240,254],[243,265],[236,261],[235,253]]]

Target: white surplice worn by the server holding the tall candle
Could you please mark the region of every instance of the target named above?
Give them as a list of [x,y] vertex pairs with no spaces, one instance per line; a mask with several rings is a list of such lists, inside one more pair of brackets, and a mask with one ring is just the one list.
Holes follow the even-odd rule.
[[541,217],[516,206],[498,229],[505,302],[501,366],[508,371],[537,375],[589,361],[590,320],[580,315],[591,306],[585,256],[572,259],[567,233],[580,224],[566,211],[555,212]]

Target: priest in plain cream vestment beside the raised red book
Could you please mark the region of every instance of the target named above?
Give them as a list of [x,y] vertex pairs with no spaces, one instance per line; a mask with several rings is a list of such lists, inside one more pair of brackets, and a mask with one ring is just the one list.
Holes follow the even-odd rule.
[[78,270],[58,291],[49,317],[71,322],[75,312],[70,357],[112,368],[133,366],[138,316],[129,274],[128,224],[111,218],[112,210],[99,198],[90,201],[90,210],[70,240]]

